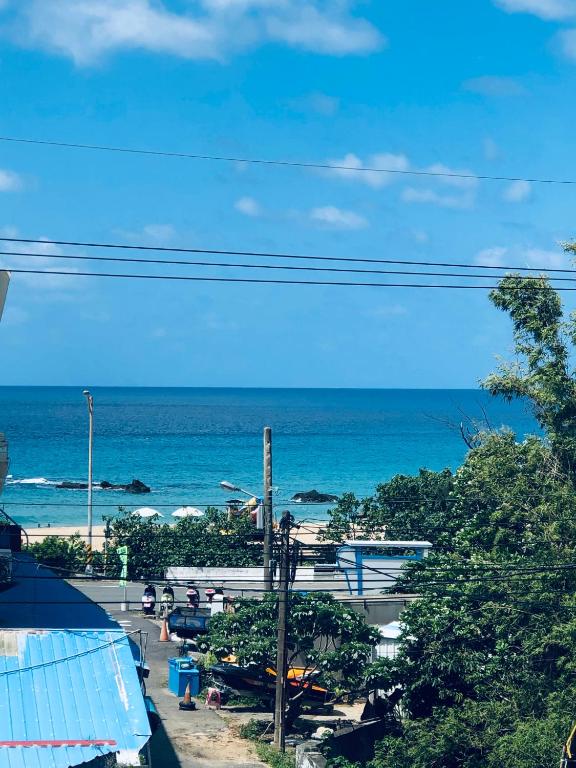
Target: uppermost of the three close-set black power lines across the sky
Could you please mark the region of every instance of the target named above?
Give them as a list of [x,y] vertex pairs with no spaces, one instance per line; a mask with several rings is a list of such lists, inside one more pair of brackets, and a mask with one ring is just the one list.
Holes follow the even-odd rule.
[[[407,266],[422,266],[422,267],[455,267],[458,269],[497,269],[507,272],[554,272],[554,273],[567,273],[573,274],[576,269],[560,269],[560,268],[545,268],[545,267],[526,267],[526,266],[498,266],[495,264],[463,264],[459,262],[444,262],[444,261],[417,261],[408,259],[366,259],[359,257],[345,257],[345,256],[312,256],[310,254],[296,254],[296,253],[278,253],[271,251],[249,251],[249,250],[226,250],[219,248],[177,248],[175,246],[156,246],[156,245],[137,245],[137,244],[124,244],[124,243],[94,243],[90,241],[82,240],[38,240],[34,238],[24,237],[0,237],[0,242],[7,243],[32,243],[34,245],[66,245],[66,246],[79,246],[82,248],[113,248],[117,250],[127,251],[157,251],[161,253],[207,253],[215,256],[254,256],[257,258],[271,258],[271,259],[297,259],[306,261],[338,261],[349,262],[358,264],[404,264]],[[15,252],[15,255],[24,255],[19,252]],[[49,254],[50,255],[50,254]],[[51,254],[56,258],[57,254]],[[171,263],[171,262],[170,262]],[[186,262],[177,262],[186,263]]]

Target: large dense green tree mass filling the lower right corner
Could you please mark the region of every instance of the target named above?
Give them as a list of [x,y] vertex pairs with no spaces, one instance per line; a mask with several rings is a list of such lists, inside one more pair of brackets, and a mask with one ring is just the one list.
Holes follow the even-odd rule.
[[373,670],[407,715],[374,768],[552,768],[576,717],[573,484],[542,439],[504,432],[470,452],[452,494],[453,548],[405,573],[422,597],[398,657]]

